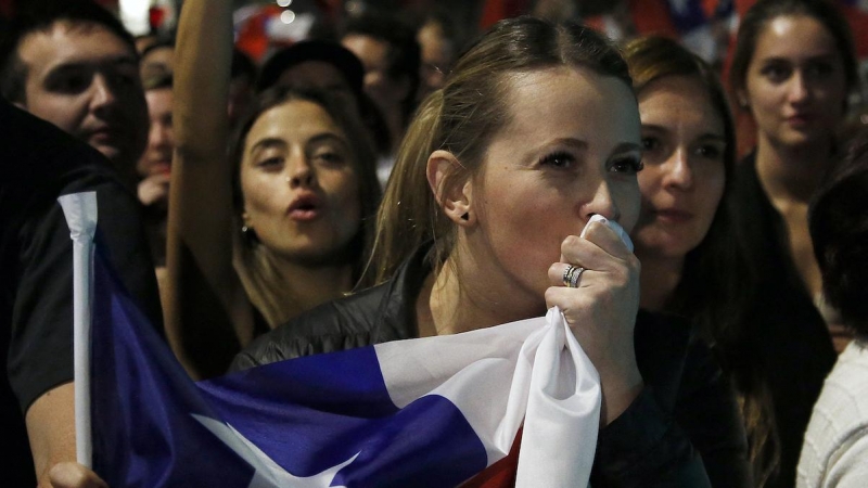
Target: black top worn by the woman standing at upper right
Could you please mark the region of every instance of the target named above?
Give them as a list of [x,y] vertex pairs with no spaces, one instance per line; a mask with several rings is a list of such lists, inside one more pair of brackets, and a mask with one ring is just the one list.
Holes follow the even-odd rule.
[[752,291],[744,336],[726,358],[728,369],[763,375],[780,438],[780,471],[767,487],[795,486],[795,467],[807,423],[837,355],[829,330],[795,269],[783,218],[756,174],[754,155],[736,170],[738,224],[750,245],[758,281]]

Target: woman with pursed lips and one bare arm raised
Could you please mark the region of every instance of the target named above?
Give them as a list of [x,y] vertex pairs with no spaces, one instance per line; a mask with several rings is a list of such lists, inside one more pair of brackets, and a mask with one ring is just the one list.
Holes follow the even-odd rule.
[[355,107],[328,93],[264,92],[227,157],[230,3],[188,1],[178,35],[165,314],[196,377],[222,374],[254,336],[353,290],[380,196]]

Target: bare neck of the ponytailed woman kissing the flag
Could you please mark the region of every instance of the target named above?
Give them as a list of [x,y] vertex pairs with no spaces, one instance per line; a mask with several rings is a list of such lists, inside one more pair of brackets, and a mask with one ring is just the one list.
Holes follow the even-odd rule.
[[[529,319],[546,312],[539,300],[521,300],[508,280],[492,280],[472,264],[462,262],[461,275],[451,260],[430,277],[417,303],[421,335],[447,335]],[[470,266],[468,266],[470,265]],[[459,279],[460,278],[460,279]],[[489,286],[495,283],[494,286]],[[485,285],[477,285],[485,284]]]

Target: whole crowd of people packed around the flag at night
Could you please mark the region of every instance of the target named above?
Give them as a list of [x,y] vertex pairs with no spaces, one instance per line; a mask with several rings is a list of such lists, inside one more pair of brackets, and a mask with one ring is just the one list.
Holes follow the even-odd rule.
[[[859,73],[833,3],[758,0],[726,82],[674,39],[523,16],[465,41],[436,10],[257,65],[232,10],[186,0],[166,38],[90,0],[3,26],[9,486],[104,486],[72,462],[55,198],[85,190],[194,380],[557,306],[600,375],[592,486],[866,483],[868,131],[841,130]],[[579,237],[596,215],[635,252]]]

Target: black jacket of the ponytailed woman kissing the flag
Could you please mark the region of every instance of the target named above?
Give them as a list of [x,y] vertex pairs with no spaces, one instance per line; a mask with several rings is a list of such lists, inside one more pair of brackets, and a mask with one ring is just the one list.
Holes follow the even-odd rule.
[[[431,272],[425,256],[422,249],[393,280],[259,337],[233,369],[417,337],[416,298]],[[591,485],[749,486],[736,400],[709,348],[691,338],[685,322],[641,311],[635,342],[646,388],[600,431]]]

